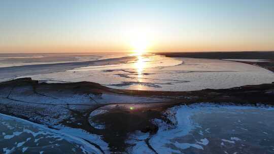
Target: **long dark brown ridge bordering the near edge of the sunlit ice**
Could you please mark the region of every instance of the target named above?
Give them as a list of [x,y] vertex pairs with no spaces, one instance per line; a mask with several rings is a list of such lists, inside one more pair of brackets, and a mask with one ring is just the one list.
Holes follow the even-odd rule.
[[[0,91],[18,86],[35,86],[45,92],[64,92],[72,94],[133,95],[144,97],[168,98],[170,102],[234,102],[234,103],[274,103],[274,84],[247,85],[228,89],[204,89],[199,91],[143,91],[112,89],[92,82],[77,83],[39,83],[30,78],[0,83]],[[43,93],[45,94],[45,93]]]

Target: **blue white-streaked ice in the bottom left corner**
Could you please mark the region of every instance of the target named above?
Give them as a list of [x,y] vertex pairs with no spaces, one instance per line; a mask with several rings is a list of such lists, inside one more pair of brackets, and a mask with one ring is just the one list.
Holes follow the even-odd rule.
[[0,153],[100,153],[78,137],[9,115],[0,114],[0,130]]

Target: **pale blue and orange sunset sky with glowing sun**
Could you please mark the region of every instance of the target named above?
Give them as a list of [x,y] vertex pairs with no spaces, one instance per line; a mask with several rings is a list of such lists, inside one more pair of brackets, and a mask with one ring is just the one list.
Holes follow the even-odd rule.
[[274,51],[274,1],[5,1],[0,53]]

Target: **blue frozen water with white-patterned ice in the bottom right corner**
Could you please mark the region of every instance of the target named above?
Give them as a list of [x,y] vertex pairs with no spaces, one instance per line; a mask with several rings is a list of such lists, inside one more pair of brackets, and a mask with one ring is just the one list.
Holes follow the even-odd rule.
[[129,153],[274,153],[271,107],[193,104],[166,113],[175,127],[154,120],[159,131],[130,135]]

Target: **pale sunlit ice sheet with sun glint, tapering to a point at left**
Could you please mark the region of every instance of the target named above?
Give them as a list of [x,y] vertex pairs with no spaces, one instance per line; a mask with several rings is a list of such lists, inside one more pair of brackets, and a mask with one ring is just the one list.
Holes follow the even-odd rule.
[[157,91],[225,89],[274,82],[273,72],[240,62],[158,55],[145,55],[143,59],[26,77],[50,83],[90,81],[115,89]]

